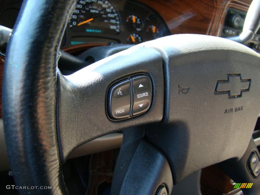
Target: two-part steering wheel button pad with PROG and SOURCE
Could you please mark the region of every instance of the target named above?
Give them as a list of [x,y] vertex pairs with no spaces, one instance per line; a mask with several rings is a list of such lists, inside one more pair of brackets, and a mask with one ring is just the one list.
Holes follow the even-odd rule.
[[125,119],[146,112],[152,101],[152,83],[148,76],[140,75],[121,81],[109,89],[108,115],[112,119]]

